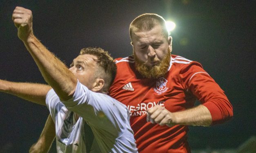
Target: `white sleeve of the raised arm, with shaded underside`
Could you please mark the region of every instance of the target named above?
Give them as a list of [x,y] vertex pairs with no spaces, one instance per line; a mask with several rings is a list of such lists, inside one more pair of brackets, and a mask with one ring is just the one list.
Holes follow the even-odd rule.
[[62,103],[67,109],[84,118],[91,127],[96,126],[107,131],[122,131],[129,116],[124,104],[106,94],[92,92],[79,81],[73,98]]

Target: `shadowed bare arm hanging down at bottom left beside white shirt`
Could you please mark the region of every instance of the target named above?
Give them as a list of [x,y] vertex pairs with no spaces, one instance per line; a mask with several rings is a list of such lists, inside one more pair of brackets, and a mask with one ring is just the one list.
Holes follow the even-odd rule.
[[51,149],[51,144],[54,138],[55,125],[51,116],[49,115],[38,141],[31,146],[29,153],[48,153]]

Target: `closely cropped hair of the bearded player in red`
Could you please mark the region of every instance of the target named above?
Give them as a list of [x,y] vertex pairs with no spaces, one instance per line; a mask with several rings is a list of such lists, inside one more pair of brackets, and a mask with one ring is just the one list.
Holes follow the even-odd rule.
[[162,27],[164,37],[168,39],[168,31],[165,25],[165,19],[154,13],[145,13],[139,15],[131,22],[129,27],[130,38],[132,38],[133,33],[150,31],[158,25]]

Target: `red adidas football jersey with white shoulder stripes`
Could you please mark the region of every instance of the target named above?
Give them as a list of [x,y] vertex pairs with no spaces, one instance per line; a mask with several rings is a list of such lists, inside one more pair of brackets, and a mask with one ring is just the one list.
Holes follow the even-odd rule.
[[160,126],[146,121],[147,109],[161,105],[171,112],[194,107],[196,98],[205,105],[213,124],[233,116],[223,90],[198,62],[171,55],[168,72],[158,79],[143,78],[134,67],[134,57],[118,58],[117,75],[109,94],[130,112],[131,128],[140,153],[186,153],[188,126]]

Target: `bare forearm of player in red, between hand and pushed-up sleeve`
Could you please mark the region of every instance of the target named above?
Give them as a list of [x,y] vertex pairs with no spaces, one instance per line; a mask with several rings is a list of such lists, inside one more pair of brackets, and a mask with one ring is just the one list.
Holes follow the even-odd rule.
[[211,125],[211,113],[204,105],[173,113],[177,125]]

